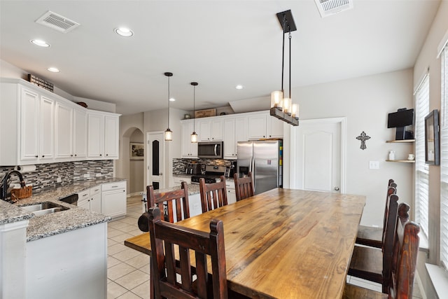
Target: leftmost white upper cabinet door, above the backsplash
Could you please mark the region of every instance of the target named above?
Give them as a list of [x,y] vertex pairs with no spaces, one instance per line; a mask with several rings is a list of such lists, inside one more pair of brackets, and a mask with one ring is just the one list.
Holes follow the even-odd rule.
[[39,96],[20,90],[20,160],[37,161],[39,152]]

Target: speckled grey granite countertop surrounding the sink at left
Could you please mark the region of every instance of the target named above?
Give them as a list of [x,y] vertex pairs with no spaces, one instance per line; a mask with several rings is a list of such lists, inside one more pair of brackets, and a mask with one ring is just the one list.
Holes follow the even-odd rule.
[[[45,190],[31,197],[18,200],[15,204],[10,204],[0,200],[0,225],[3,223],[14,223],[18,221],[29,220],[27,227],[27,241],[34,241],[43,237],[50,237],[63,232],[85,228],[90,225],[104,223],[111,220],[111,217],[89,211],[80,207],[66,204],[60,199],[79,193],[88,188],[98,186],[102,183],[113,183],[115,181],[125,181],[120,178],[102,178],[89,179],[85,181],[76,181],[68,186],[61,186]],[[35,216],[19,206],[36,204],[38,202],[55,202],[63,207],[70,209],[58,211],[53,214]]]

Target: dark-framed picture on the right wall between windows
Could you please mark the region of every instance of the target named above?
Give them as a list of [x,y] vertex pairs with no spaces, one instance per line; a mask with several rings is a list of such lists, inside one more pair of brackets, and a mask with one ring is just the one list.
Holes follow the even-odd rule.
[[425,162],[440,165],[439,111],[434,109],[425,118]]

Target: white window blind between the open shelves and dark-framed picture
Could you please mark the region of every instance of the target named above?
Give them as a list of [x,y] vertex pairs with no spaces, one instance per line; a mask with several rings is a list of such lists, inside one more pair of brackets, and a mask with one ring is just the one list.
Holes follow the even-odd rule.
[[428,165],[425,163],[425,117],[429,113],[429,76],[415,93],[415,218],[428,236]]

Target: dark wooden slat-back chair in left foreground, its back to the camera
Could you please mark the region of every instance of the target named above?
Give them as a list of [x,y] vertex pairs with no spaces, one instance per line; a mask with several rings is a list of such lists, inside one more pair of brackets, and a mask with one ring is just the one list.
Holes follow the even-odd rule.
[[[154,298],[228,298],[225,269],[223,222],[211,220],[210,232],[161,221],[160,209],[151,207],[144,214],[148,219],[154,281]],[[195,254],[193,281],[190,251]],[[207,256],[211,270],[207,269]],[[176,258],[181,279],[176,278]]]

